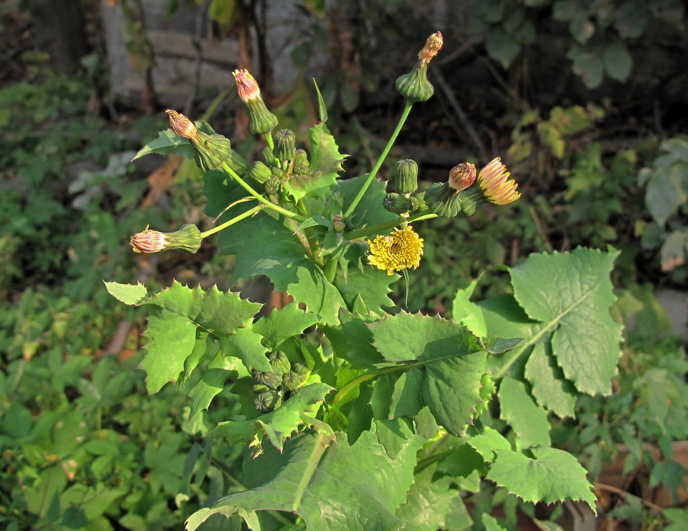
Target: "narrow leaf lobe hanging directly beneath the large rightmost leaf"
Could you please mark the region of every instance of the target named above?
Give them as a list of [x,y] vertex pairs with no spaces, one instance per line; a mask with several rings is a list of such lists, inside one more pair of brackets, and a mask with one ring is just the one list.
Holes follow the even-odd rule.
[[533,386],[535,400],[560,418],[575,417],[575,389],[561,376],[561,369],[556,367],[555,360],[545,351],[545,345],[538,343],[528,356],[526,362],[526,379]]

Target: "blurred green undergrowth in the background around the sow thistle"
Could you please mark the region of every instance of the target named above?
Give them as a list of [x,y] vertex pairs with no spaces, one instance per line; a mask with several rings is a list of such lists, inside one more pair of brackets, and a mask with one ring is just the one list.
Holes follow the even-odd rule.
[[[392,95],[394,78],[415,60],[409,50],[425,35],[418,28],[436,29],[425,19],[408,28],[408,4],[376,10],[372,2],[360,14],[365,24],[347,19],[352,57],[365,59],[334,64],[319,80],[341,151],[355,154],[349,175],[369,169],[394,127],[401,105]],[[241,20],[221,2],[211,5],[226,28]],[[321,3],[302,8],[311,25],[294,64],[305,69],[313,50],[341,41],[327,31]],[[688,50],[685,4],[491,0],[474,2],[468,14],[473,33],[445,32],[447,60],[440,54],[436,72],[465,116],[438,89],[427,110],[412,114],[402,143],[461,147],[469,162],[484,165],[480,145],[470,140],[473,128],[504,157],[523,196],[498,213],[484,206],[472,217],[416,227],[425,255],[408,287],[398,283],[396,299],[408,301],[410,311],[449,317],[458,288],[478,278],[478,298],[504,292],[500,266],[530,252],[620,249],[616,317],[636,325],[627,332],[614,395],[581,400],[575,420],[552,419],[552,433],[592,476],[627,451],[627,488],[601,497],[601,519],[684,529],[685,511],[663,513],[643,496],[646,488],[663,487],[670,504],[686,502],[687,470],[675,459],[688,431],[688,366],[652,295],[658,286],[685,288],[687,274],[688,101],[676,96],[686,74],[674,65]],[[389,41],[400,46],[380,54]],[[231,259],[205,247],[193,258],[133,254],[127,239],[148,224],[174,230],[202,218],[202,185],[192,170],[182,166],[149,204],[154,168],[129,162],[166,128],[163,113],[129,109],[114,120],[92,105],[107,85],[103,78],[96,83],[93,68],[54,74],[30,48],[14,61],[21,68],[8,70],[0,86],[0,526],[178,529],[235,485],[230,468],[240,449],[207,438],[207,417],[186,422],[188,405],[170,386],[147,398],[136,370],[142,314],[111,299],[102,280],[145,277],[162,285],[174,276],[228,288]],[[310,112],[306,85],[299,80],[301,90],[277,109],[285,127]],[[626,89],[630,96],[619,98]],[[215,118],[229,119],[222,112]],[[250,155],[259,147],[235,149]],[[396,149],[399,158],[413,156]],[[443,166],[422,150],[418,160],[426,185],[462,162]],[[220,402],[213,415],[233,407]],[[486,494],[484,503],[515,514],[516,502],[507,498]],[[515,516],[508,521],[516,525]]]

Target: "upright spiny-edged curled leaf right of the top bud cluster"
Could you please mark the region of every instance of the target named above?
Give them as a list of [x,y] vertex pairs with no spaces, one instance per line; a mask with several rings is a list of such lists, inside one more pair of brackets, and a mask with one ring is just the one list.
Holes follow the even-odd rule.
[[294,199],[325,197],[337,184],[337,173],[342,171],[346,155],[339,153],[334,136],[324,123],[310,129],[310,170],[307,175],[296,175],[284,182],[284,190]]

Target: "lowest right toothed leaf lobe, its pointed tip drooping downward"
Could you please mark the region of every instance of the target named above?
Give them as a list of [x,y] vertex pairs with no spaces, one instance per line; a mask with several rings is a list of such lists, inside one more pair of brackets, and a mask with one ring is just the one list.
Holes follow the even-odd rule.
[[557,448],[533,448],[532,452],[535,459],[519,452],[497,451],[487,479],[524,501],[581,500],[597,512],[585,468],[573,455]]

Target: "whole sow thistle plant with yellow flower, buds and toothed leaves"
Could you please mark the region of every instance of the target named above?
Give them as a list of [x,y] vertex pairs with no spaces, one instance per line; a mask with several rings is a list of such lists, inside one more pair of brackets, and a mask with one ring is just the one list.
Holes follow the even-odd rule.
[[398,78],[405,106],[365,175],[343,177],[317,86],[320,122],[299,140],[279,129],[246,70],[235,80],[249,129],[264,139],[257,160],[173,110],[171,129],[137,155],[193,158],[205,172],[205,213],[217,219],[204,232],[146,228],[131,237],[134,250],[196,252],[218,233],[218,251],[236,257],[234,279],[263,274],[294,298],[259,317],[261,304],[217,288],[107,283],[120,301],[151,306],[140,364],[151,393],[175,382],[194,426],[218,395],[237,404],[213,436],[250,448],[243,468],[218,465],[241,488],[207,497],[186,529],[215,513],[251,529],[497,529],[464,506],[486,492],[530,513],[563,500],[594,510],[585,470],[552,447],[548,418],[574,418],[579,395],[611,392],[617,252],[533,254],[508,268],[512,293],[473,302],[476,281],[458,290],[451,320],[389,299],[399,273],[412,280],[422,263],[424,220],[520,197],[499,158],[480,170],[461,162],[424,191],[413,160],[396,162],[388,182],[376,178],[411,108],[433,94],[427,66],[441,46],[439,32],[430,36]]

